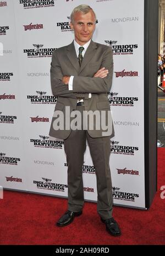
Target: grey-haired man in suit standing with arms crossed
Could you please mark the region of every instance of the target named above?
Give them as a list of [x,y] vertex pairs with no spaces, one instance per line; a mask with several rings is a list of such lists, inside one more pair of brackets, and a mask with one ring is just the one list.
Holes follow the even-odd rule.
[[[96,15],[91,7],[82,4],[74,8],[70,20],[75,39],[70,45],[54,51],[51,63],[52,92],[53,95],[58,95],[58,100],[50,135],[64,139],[68,164],[68,210],[57,221],[57,226],[69,225],[75,216],[83,213],[82,172],[87,140],[96,170],[97,212],[107,231],[113,236],[119,236],[120,228],[112,217],[113,197],[109,169],[112,117],[107,93],[112,85],[112,49],[91,40],[96,23]],[[58,127],[61,112],[64,128]],[[75,112],[79,116],[76,121],[73,119]],[[84,115],[89,112],[96,113],[96,116],[91,114],[92,117],[95,116],[92,128]],[[102,121],[105,126],[98,128]]]

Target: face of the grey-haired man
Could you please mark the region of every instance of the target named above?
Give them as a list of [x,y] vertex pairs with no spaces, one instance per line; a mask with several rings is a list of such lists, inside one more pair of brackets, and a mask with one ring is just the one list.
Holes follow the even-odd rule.
[[79,45],[85,45],[91,39],[95,30],[95,15],[92,10],[86,14],[76,12],[74,23],[70,23],[70,27],[74,30],[75,41]]

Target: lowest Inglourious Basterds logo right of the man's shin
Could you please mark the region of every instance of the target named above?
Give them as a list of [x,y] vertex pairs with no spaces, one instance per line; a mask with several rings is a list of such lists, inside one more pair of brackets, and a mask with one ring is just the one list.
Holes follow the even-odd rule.
[[123,192],[119,190],[120,188],[117,188],[117,187],[112,188],[113,199],[134,202],[137,198],[139,198],[139,194],[132,193],[132,192]]

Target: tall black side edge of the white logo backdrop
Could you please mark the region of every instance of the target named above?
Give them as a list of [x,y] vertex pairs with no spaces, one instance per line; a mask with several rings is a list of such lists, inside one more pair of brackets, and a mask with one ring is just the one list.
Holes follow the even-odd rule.
[[[157,1],[157,3],[156,3]],[[156,124],[157,124],[157,109],[156,114],[151,113],[151,97],[153,100],[156,100],[157,102],[157,84],[154,84],[154,81],[150,80],[150,74],[152,72],[152,69],[155,70],[156,68],[156,74],[157,74],[157,59],[155,60],[155,63],[152,63],[151,58],[151,51],[155,51],[155,48],[151,49],[150,46],[150,40],[153,35],[155,34],[155,38],[158,39],[158,12],[155,16],[155,10],[152,7],[156,6],[157,4],[157,10],[158,10],[158,0],[144,0],[144,155],[145,155],[145,206],[147,209],[150,208],[153,194],[155,194],[154,191],[151,193],[151,189],[153,189],[154,184],[156,183],[156,190],[157,190],[157,125],[156,125],[156,145],[152,143],[152,127],[151,122],[154,126],[155,124],[155,118],[156,118]],[[154,15],[153,15],[154,14]],[[153,22],[151,24],[151,17],[153,19]],[[158,49],[158,40],[156,43],[156,47]],[[153,95],[152,91],[150,92],[150,86],[155,86],[156,88],[156,94]],[[156,99],[155,99],[156,97]],[[157,106],[157,104],[156,104]],[[155,116],[156,115],[156,116]],[[152,118],[152,119],[151,119]],[[153,128],[154,132],[154,128]],[[153,150],[155,150],[154,156],[151,152],[151,146],[154,147]],[[156,159],[153,159],[156,157]],[[154,161],[156,162],[156,166],[152,166],[154,164]],[[151,168],[153,167],[153,169]],[[154,177],[153,170],[156,168],[156,177]]]

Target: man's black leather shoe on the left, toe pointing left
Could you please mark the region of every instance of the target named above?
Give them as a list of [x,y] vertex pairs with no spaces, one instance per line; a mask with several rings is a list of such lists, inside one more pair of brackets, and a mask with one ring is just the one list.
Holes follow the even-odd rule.
[[74,217],[80,216],[83,213],[83,211],[66,211],[66,213],[57,221],[56,225],[59,227],[64,227],[72,223],[74,220]]

